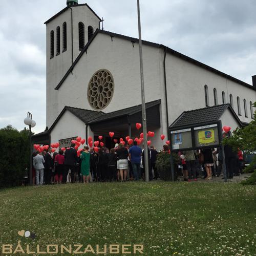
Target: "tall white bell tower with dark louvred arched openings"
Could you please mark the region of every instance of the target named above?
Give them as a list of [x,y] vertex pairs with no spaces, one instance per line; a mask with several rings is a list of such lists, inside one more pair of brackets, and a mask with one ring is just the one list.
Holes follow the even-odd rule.
[[78,0],[66,0],[66,3],[67,6],[64,9],[45,22],[47,40],[46,123],[48,127],[51,127],[63,109],[63,99],[59,98],[59,91],[55,88],[95,30],[99,28],[101,21],[87,4],[78,4]]

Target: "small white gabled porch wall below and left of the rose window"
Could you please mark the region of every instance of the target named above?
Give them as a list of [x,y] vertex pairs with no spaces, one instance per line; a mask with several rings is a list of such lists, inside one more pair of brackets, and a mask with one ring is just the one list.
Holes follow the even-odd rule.
[[[66,111],[51,131],[51,143],[61,139],[80,136],[86,138],[86,125],[69,111]],[[81,145],[79,148],[82,148]]]

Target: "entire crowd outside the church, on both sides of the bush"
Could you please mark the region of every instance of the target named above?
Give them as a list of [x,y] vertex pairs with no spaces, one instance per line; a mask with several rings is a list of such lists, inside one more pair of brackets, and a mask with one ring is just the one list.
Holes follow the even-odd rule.
[[[224,136],[230,136],[224,133]],[[168,145],[163,145],[163,152],[169,153]],[[232,147],[225,145],[225,163],[227,178],[242,173],[243,154],[234,151]],[[156,168],[157,150],[152,145],[148,148],[149,178],[158,179]],[[184,181],[197,181],[199,177],[211,180],[212,177],[223,175],[223,158],[220,148],[205,148],[200,151],[179,152],[178,166],[182,171]],[[52,154],[52,148],[43,152],[36,152],[33,156],[33,180],[34,184],[61,184],[67,182],[112,182],[127,180],[138,181],[145,178],[144,150],[134,141],[132,145],[124,146],[116,144],[115,148],[84,146],[78,156],[75,144],[67,148],[65,152],[59,150]],[[179,168],[178,168],[179,169]]]

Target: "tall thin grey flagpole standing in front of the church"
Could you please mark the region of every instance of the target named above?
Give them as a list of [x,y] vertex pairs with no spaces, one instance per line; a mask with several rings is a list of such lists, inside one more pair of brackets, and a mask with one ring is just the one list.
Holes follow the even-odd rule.
[[145,180],[148,182],[148,150],[147,150],[147,137],[146,137],[146,106],[145,106],[145,93],[144,93],[144,76],[143,76],[143,60],[142,60],[142,40],[141,40],[141,25],[140,25],[140,1],[137,0],[138,9],[138,28],[139,28],[139,52],[140,52],[140,82],[141,82],[141,108],[142,108],[142,124],[143,124],[143,143],[144,143],[144,169]]

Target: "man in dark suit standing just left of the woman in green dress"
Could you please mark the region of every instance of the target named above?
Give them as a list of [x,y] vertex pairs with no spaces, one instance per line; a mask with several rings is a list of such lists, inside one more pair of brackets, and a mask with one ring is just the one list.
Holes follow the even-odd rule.
[[75,150],[75,144],[72,143],[71,147],[65,152],[65,172],[63,175],[62,182],[67,183],[67,176],[69,174],[69,170],[71,170],[71,182],[74,182],[74,174],[76,171],[76,161],[77,161],[77,152]]

